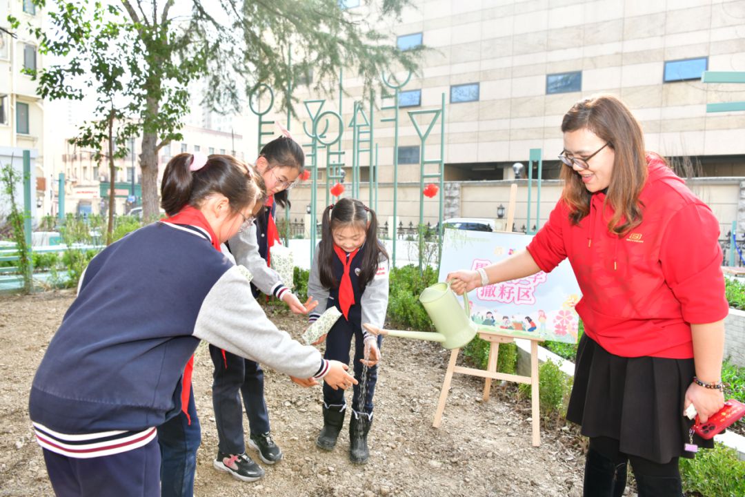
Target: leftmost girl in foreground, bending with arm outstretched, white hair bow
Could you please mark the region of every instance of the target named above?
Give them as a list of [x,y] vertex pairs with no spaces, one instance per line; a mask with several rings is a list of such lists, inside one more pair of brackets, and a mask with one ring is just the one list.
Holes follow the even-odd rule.
[[34,376],[29,414],[58,496],[161,495],[156,427],[186,410],[183,373],[200,340],[303,386],[355,383],[346,364],[276,329],[221,253],[264,195],[253,168],[182,153],[161,192],[168,218],[92,259]]

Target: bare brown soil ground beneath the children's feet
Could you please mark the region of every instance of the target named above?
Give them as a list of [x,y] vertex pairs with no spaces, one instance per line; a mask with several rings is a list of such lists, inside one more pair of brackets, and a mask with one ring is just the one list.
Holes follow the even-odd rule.
[[[71,291],[0,296],[0,496],[53,495],[28,419],[28,391],[73,297]],[[299,317],[285,312],[270,317],[295,337],[302,333]],[[320,387],[302,389],[267,371],[272,434],[284,459],[263,465],[267,474],[260,481],[243,483],[212,468],[218,445],[212,361],[202,344],[194,367],[202,423],[194,495],[581,495],[584,457],[576,438],[566,428],[544,429],[541,446],[531,446],[530,401],[514,401],[506,392],[512,387],[492,387],[492,398],[481,402],[483,380],[455,375],[442,425],[433,428],[448,351],[431,342],[387,338],[382,353],[367,465],[349,462],[346,425],[334,452],[316,448],[323,424]],[[347,397],[351,402],[351,393]],[[249,450],[249,455],[256,454]]]

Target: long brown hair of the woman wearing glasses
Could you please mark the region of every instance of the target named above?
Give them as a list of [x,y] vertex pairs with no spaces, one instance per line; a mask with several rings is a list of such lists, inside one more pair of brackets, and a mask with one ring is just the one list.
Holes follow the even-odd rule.
[[[641,223],[639,194],[647,181],[647,159],[641,126],[630,110],[611,95],[600,95],[574,104],[564,115],[562,133],[590,130],[608,142],[615,152],[606,202],[613,209],[608,230],[622,235]],[[562,166],[562,199],[568,203],[572,224],[579,224],[590,212],[592,193],[580,175]]]

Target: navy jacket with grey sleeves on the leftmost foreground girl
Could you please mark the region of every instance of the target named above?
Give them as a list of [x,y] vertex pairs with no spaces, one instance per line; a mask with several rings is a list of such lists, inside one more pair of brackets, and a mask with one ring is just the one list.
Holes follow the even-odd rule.
[[145,445],[179,412],[181,375],[200,340],[291,376],[328,371],[317,349],[267,319],[203,229],[150,224],[86,269],[31,387],[39,443],[77,458]]

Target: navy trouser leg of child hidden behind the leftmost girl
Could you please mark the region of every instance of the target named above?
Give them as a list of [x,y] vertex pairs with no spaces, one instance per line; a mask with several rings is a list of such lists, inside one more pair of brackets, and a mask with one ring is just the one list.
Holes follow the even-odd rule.
[[189,392],[187,412],[188,418],[179,411],[158,427],[162,497],[194,495],[194,472],[197,471],[197,449],[202,441],[202,429],[194,405],[193,388]]

